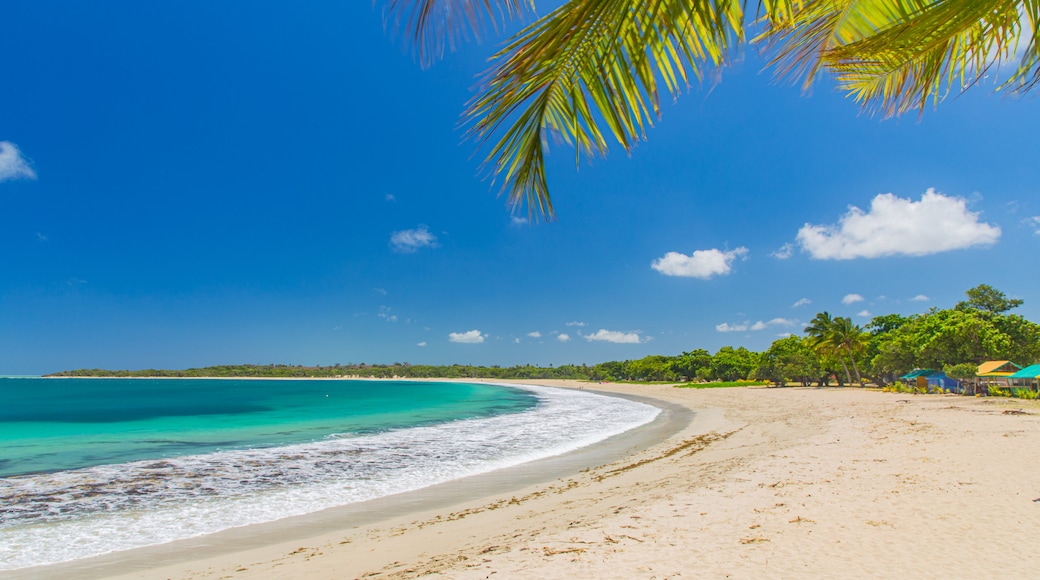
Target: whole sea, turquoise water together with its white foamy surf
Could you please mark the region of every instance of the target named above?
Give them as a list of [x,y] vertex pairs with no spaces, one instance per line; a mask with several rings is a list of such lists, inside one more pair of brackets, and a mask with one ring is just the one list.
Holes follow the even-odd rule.
[[418,490],[591,445],[657,413],[484,384],[0,379],[0,570]]

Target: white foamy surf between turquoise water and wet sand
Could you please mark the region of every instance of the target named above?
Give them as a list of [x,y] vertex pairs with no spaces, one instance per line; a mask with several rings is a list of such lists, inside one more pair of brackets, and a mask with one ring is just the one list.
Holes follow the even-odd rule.
[[283,447],[0,479],[0,570],[56,563],[310,513],[558,455],[659,410],[523,387],[530,411]]

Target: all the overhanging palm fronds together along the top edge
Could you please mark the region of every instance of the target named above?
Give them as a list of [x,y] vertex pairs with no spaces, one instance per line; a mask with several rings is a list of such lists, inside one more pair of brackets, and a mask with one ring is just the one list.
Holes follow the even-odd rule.
[[[386,0],[428,62],[468,35],[534,14],[535,0]],[[644,139],[673,97],[734,46],[761,47],[782,76],[817,74],[865,110],[924,110],[1017,60],[1000,88],[1040,83],[1040,0],[568,0],[492,57],[465,113],[469,135],[493,139],[486,163],[514,207],[554,217],[545,176],[550,135],[575,158]],[[662,86],[661,86],[662,85]],[[537,210],[537,211],[536,211]]]

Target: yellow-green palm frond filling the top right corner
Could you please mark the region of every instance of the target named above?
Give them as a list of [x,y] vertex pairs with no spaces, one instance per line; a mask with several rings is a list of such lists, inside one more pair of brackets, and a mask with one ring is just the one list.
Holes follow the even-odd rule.
[[[1022,34],[1022,6],[1023,0],[817,0],[772,22],[760,38],[778,49],[774,63],[782,75],[804,75],[810,83],[828,69],[861,106],[891,116],[921,110],[1007,62]],[[1034,77],[1036,69],[1034,61]],[[1021,72],[1013,78],[1024,81]]]

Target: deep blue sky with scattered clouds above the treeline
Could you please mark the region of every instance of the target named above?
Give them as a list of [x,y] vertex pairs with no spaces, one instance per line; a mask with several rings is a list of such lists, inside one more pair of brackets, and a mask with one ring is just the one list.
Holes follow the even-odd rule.
[[524,223],[458,129],[494,47],[423,70],[366,2],[9,2],[0,373],[762,349],[980,283],[1040,320],[1035,97],[880,121],[748,50],[630,156],[553,147]]

